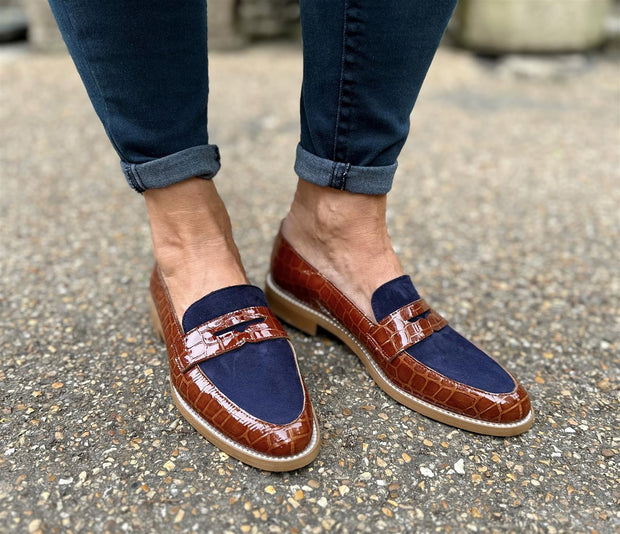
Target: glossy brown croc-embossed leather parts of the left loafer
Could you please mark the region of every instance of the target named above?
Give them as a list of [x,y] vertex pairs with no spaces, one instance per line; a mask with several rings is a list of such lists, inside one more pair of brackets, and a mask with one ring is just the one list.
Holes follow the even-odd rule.
[[[171,382],[185,402],[211,426],[237,444],[258,453],[284,457],[306,449],[313,434],[313,413],[305,385],[304,405],[297,419],[278,425],[253,417],[234,404],[198,365],[216,356],[225,358],[226,352],[244,343],[288,338],[270,310],[265,307],[245,308],[218,317],[185,334],[157,266],[151,275],[150,290],[168,349]],[[263,320],[248,325],[244,332],[233,330],[220,333],[257,319]]]

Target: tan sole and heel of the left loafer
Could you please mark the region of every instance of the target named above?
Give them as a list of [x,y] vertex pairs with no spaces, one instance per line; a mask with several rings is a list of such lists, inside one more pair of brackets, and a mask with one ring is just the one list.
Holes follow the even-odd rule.
[[[149,296],[150,297],[150,296]],[[155,303],[151,298],[151,320],[155,333],[161,341],[165,341],[163,328],[155,308]],[[211,444],[215,445],[218,449],[224,451],[226,454],[242,461],[252,467],[258,469],[264,469],[265,471],[294,471],[308,465],[318,455],[321,440],[319,424],[316,418],[314,410],[312,412],[312,439],[308,446],[301,452],[291,456],[269,456],[267,454],[259,453],[249,447],[245,447],[236,441],[232,440],[217,428],[209,424],[198,414],[180,395],[177,389],[174,387],[172,381],[170,382],[170,391],[172,393],[172,400],[175,406],[181,412],[181,415],[185,420],[192,425],[204,438]]]

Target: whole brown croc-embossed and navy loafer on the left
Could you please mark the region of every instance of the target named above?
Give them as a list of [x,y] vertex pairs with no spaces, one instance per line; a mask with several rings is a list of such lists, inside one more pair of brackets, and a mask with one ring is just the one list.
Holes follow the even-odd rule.
[[215,446],[260,469],[290,471],[314,460],[317,420],[295,351],[264,293],[249,285],[224,288],[179,321],[157,267],[150,290],[183,417]]

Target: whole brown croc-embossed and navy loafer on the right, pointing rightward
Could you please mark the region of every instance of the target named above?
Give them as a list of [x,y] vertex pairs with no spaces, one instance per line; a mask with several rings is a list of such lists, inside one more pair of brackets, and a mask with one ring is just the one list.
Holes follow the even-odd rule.
[[378,288],[367,317],[278,235],[267,275],[271,309],[315,335],[342,340],[392,398],[458,428],[496,436],[525,432],[529,397],[502,366],[447,326],[408,276]]

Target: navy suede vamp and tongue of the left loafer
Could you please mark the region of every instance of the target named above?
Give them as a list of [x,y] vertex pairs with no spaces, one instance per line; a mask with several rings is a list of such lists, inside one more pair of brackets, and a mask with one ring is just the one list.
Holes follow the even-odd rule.
[[[220,315],[250,306],[268,306],[260,288],[238,285],[218,289],[187,309],[183,330],[187,333]],[[243,331],[252,322],[234,329]],[[199,365],[224,395],[258,419],[283,425],[297,419],[303,409],[301,378],[285,339],[246,343]]]

